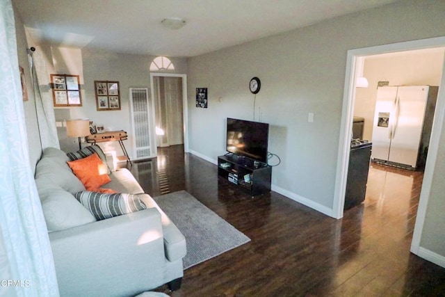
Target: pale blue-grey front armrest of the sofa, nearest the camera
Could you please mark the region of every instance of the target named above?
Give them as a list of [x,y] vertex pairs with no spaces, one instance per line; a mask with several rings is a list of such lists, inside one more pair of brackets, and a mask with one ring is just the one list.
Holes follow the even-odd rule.
[[161,214],[144,209],[49,233],[61,296],[129,296],[163,284]]

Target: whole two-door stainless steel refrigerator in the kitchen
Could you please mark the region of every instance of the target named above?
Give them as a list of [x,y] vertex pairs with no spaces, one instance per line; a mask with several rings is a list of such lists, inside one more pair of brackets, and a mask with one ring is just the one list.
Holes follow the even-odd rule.
[[378,88],[371,160],[408,169],[426,161],[437,86]]

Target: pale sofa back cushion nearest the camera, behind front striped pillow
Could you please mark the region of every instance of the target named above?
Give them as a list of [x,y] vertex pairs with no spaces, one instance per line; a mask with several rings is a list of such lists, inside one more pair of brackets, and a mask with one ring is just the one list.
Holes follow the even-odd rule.
[[64,230],[96,219],[74,196],[47,179],[35,179],[48,232]]

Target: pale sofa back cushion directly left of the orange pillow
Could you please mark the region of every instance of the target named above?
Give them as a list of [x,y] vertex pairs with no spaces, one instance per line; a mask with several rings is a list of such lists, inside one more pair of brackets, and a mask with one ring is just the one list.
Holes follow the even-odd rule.
[[47,147],[35,166],[35,179],[44,179],[47,184],[60,186],[72,194],[85,191],[85,186],[68,166],[69,160],[65,152],[54,147]]

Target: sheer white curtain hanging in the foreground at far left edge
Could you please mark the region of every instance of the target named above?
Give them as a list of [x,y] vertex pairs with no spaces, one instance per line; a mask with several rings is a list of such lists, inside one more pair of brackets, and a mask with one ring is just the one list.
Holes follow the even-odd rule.
[[29,165],[13,6],[0,0],[0,295],[58,296]]

